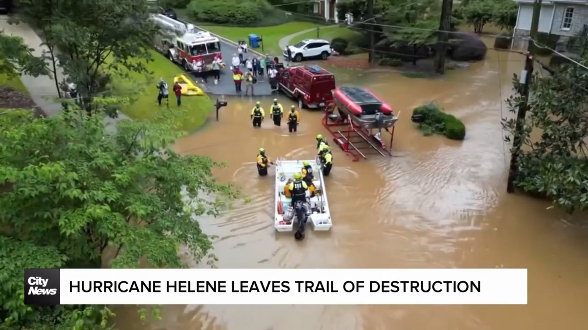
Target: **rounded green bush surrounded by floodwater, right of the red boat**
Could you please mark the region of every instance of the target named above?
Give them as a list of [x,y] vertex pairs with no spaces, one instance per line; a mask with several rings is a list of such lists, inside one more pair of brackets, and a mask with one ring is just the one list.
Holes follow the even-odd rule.
[[416,107],[412,115],[422,116],[419,128],[425,135],[443,134],[452,140],[463,140],[466,137],[466,126],[462,121],[443,112],[435,103]]

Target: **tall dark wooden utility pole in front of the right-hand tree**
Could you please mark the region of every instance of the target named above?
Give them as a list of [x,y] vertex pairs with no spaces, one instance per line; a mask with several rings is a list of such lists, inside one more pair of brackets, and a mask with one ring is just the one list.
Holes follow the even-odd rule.
[[[529,109],[529,84],[533,76],[533,57],[535,55],[534,41],[537,39],[537,29],[539,29],[539,14],[541,13],[541,0],[534,0],[533,2],[533,19],[531,21],[531,30],[529,33],[529,45],[527,46],[526,59],[524,61],[524,70],[520,75],[520,83],[522,84],[520,95],[522,100],[519,105],[519,112],[516,116],[515,136],[513,138],[513,148],[510,151],[510,167],[509,179],[506,184],[506,191],[508,193],[515,192],[515,178],[519,171],[519,156],[520,149],[523,146],[523,127],[524,119]],[[501,100],[502,102],[502,100]]]

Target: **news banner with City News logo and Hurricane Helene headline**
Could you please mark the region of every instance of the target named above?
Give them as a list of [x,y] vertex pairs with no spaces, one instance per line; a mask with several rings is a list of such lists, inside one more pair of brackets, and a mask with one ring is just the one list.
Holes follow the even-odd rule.
[[526,269],[29,269],[28,305],[526,305]]

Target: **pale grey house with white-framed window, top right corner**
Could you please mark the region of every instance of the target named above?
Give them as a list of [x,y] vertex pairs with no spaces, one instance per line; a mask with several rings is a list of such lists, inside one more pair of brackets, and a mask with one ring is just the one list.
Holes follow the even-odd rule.
[[[517,0],[519,14],[515,38],[529,36],[533,18],[533,1]],[[577,35],[588,35],[588,0],[543,1],[539,15],[539,32],[560,35],[560,41]]]

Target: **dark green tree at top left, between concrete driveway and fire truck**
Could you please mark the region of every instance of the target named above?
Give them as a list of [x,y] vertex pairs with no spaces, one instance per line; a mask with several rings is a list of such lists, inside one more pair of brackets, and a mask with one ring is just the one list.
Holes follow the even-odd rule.
[[145,0],[20,0],[19,7],[45,39],[51,70],[61,66],[87,110],[111,75],[148,72],[158,27]]

